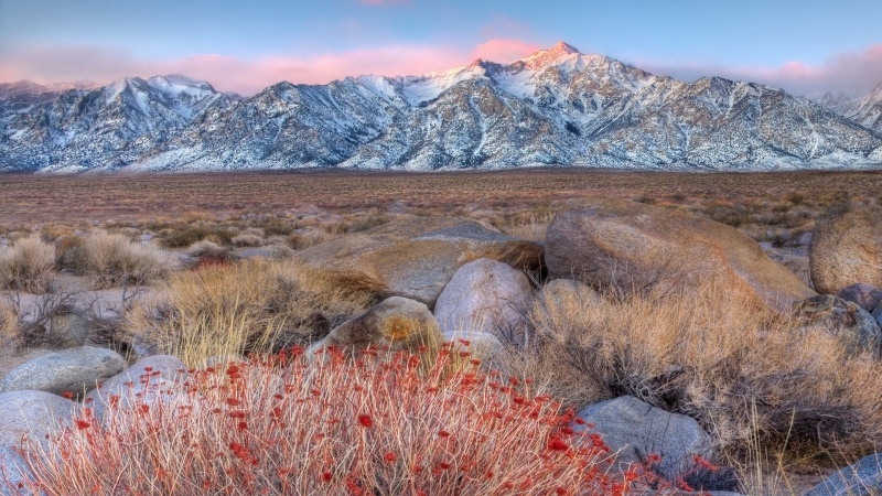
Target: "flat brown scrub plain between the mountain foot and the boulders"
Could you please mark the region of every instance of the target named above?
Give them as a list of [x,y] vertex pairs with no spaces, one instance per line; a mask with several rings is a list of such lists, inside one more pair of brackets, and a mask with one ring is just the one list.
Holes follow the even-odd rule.
[[[34,223],[141,227],[168,247],[229,244],[248,227],[288,236],[314,223],[304,212],[345,216],[329,230],[357,230],[395,213],[472,215],[505,228],[518,216],[615,196],[684,208],[735,225],[760,240],[808,231],[827,208],[882,198],[880,172],[634,173],[576,169],[493,172],[224,173],[142,176],[0,176],[0,231]],[[35,198],[53,198],[52,202]],[[57,204],[68,207],[60,211]],[[260,214],[255,214],[260,213]],[[312,214],[309,214],[312,215]],[[309,217],[306,215],[306,217]],[[541,223],[539,223],[541,224]],[[768,230],[778,230],[771,233]],[[64,234],[51,227],[50,236]]]

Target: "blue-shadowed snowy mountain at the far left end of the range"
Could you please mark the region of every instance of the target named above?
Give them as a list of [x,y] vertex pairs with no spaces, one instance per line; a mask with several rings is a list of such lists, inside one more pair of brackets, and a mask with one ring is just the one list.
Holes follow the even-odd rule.
[[78,172],[128,165],[235,99],[178,75],[62,91],[0,114],[0,169]]

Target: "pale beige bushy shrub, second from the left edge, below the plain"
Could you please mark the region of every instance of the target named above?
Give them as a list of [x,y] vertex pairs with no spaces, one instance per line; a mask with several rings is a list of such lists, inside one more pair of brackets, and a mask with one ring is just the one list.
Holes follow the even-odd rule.
[[173,258],[152,245],[98,231],[84,240],[85,273],[95,289],[148,284],[163,278],[174,267]]

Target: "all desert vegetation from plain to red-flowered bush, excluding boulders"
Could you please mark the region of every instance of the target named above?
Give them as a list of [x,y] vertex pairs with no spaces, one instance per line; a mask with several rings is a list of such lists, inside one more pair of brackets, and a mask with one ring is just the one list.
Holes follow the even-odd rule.
[[[880,451],[879,357],[720,281],[537,296],[523,315],[530,338],[494,354],[453,342],[354,357],[325,349],[315,360],[304,349],[392,292],[298,252],[423,217],[545,242],[556,214],[612,196],[707,217],[799,258],[821,216],[882,200],[881,174],[370,177],[111,176],[89,180],[94,190],[82,177],[4,177],[7,345],[68,347],[71,336],[54,333],[76,314],[88,343],[130,364],[173,355],[189,370],[162,382],[168,401],[129,398],[104,418],[86,410],[52,443],[28,448],[37,485],[22,494],[789,495],[800,476],[817,482]],[[29,200],[50,192],[78,207],[53,213]],[[547,273],[529,277],[542,293]],[[96,303],[106,292],[112,312]],[[430,368],[410,366],[427,353]],[[654,470],[657,453],[613,470],[602,438],[571,425],[585,406],[622,396],[697,420],[717,456],[678,479]]]

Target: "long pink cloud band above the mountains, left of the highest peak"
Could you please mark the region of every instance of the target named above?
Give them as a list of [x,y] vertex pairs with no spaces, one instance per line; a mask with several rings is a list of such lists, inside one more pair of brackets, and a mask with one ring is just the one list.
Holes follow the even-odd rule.
[[474,48],[392,44],[376,48],[318,53],[302,56],[268,56],[244,60],[202,54],[178,60],[148,60],[130,53],[96,46],[19,50],[0,57],[0,82],[96,80],[185,74],[212,83],[219,90],[252,95],[288,80],[324,84],[361,74],[415,75],[466,65],[482,57],[510,62],[536,46],[517,40],[487,40]]

